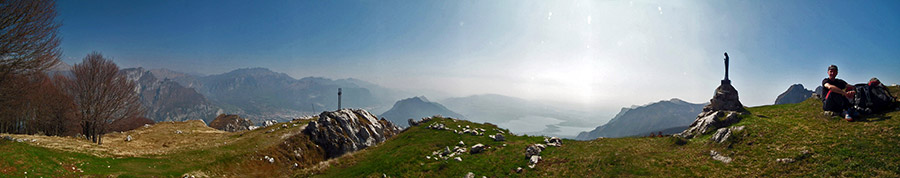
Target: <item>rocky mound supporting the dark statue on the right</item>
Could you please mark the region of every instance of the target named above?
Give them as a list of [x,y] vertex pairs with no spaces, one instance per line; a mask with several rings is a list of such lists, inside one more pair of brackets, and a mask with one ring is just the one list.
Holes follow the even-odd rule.
[[694,123],[675,136],[690,139],[717,128],[728,127],[739,122],[740,115],[744,113],[747,113],[747,110],[738,100],[737,90],[731,86],[730,81],[722,81],[722,85],[716,88],[715,95],[709,100],[709,104],[703,107],[703,112],[697,115]]

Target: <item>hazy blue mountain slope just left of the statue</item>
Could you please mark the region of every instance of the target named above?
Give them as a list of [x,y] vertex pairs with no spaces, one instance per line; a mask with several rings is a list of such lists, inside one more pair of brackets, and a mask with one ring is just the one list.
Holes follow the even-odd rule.
[[622,108],[608,123],[589,132],[581,132],[576,139],[636,136],[688,126],[704,105],[673,98],[635,108]]

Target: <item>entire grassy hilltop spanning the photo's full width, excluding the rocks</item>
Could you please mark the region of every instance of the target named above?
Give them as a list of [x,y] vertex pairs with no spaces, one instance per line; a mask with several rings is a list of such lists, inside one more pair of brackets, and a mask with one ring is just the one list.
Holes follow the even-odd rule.
[[[900,87],[891,87],[891,92],[897,95]],[[465,120],[434,118],[375,147],[321,163],[322,150],[298,134],[307,120],[237,133],[210,130],[196,121],[163,122],[108,134],[102,146],[73,138],[12,135],[37,141],[0,141],[0,175],[461,177],[472,172],[476,177],[900,176],[900,111],[846,122],[822,115],[821,106],[810,99],[748,108],[751,114],[735,124],[746,128],[723,144],[710,143],[710,134],[686,144],[676,144],[678,140],[672,137],[564,140],[562,147],[550,146],[541,152],[543,160],[535,168],[527,167],[525,147],[544,143],[544,137],[505,134],[506,141],[494,141],[488,135],[508,130]],[[483,136],[460,135],[427,128],[436,123],[485,132]],[[177,130],[183,133],[176,134]],[[124,142],[129,134],[135,141]],[[459,156],[462,161],[426,159],[460,141],[466,148],[481,143],[487,149],[463,153]],[[733,161],[713,160],[711,150]],[[264,156],[276,161],[269,163]],[[796,161],[781,163],[776,161],[779,158]],[[299,166],[294,168],[293,163]],[[517,173],[517,167],[524,171]]]

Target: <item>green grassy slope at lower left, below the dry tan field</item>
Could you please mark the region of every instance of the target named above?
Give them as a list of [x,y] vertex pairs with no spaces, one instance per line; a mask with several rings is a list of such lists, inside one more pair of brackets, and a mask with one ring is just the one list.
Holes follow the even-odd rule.
[[[297,122],[305,124],[306,120]],[[281,148],[281,143],[291,143],[298,147],[312,148],[315,145],[305,135],[282,138],[285,134],[296,133],[302,127],[280,128],[281,124],[253,131],[229,133],[227,144],[221,146],[186,149],[164,155],[144,155],[136,157],[101,157],[92,154],[43,148],[26,143],[0,139],[0,177],[5,176],[46,176],[80,177],[113,175],[120,177],[178,177],[185,173],[213,177],[253,175],[287,176],[290,165],[300,163],[311,165],[322,158],[306,160],[291,159]],[[273,129],[276,131],[266,133]],[[324,157],[321,150],[308,149],[307,157]],[[275,157],[272,164],[261,160],[263,156]],[[27,174],[26,174],[27,172]]]

